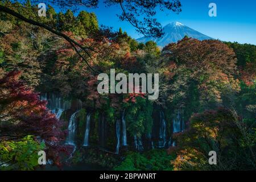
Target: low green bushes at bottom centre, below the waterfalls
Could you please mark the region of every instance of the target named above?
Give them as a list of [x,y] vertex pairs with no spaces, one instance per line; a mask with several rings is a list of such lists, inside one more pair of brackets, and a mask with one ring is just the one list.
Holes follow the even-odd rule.
[[125,160],[114,167],[115,171],[172,171],[171,160],[175,155],[167,154],[166,150],[151,150],[143,153],[129,152]]

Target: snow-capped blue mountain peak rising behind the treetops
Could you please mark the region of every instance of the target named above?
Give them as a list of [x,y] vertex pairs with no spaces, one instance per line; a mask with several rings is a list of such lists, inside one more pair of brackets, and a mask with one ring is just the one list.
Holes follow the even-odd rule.
[[183,39],[184,36],[188,36],[189,38],[195,38],[198,40],[208,40],[213,39],[207,35],[201,34],[200,32],[193,30],[184,24],[179,22],[169,23],[163,27],[163,36],[161,38],[152,38],[152,37],[142,37],[137,39],[139,43],[146,43],[150,40],[156,42],[159,47],[167,46],[170,43],[176,43],[179,40]]

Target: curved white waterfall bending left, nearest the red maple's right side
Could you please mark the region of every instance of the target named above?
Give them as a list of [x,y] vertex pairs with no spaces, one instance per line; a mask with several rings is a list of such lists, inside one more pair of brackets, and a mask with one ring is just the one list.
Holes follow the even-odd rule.
[[80,110],[73,113],[71,115],[71,118],[69,119],[67,144],[70,144],[72,146],[76,146],[76,144],[75,144],[76,117],[77,117],[77,113],[79,113],[79,111]]

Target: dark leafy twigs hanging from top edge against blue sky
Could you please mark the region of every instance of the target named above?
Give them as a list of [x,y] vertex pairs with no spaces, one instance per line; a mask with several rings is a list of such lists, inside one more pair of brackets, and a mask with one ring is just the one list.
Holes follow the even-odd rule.
[[[18,1],[20,3],[25,3],[26,1]],[[32,4],[39,3],[38,0],[32,0]],[[96,8],[98,5],[98,0],[75,0],[75,1],[61,1],[61,0],[51,0],[47,3],[49,5],[55,5],[62,10],[72,9],[76,11],[78,6],[85,6],[88,8]],[[156,14],[156,9],[159,8],[161,11],[168,10],[174,13],[180,13],[181,3],[179,0],[171,1],[104,1],[107,7],[109,6],[119,6],[122,10],[122,14],[118,15],[119,19],[126,20],[131,23],[137,31],[146,36],[160,37],[162,36],[162,27],[160,23],[156,21],[154,15]]]

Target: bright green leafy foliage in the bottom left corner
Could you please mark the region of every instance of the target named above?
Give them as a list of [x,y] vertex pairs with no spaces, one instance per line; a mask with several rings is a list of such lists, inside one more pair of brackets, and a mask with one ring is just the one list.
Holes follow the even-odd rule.
[[32,170],[38,167],[38,152],[44,150],[45,144],[36,142],[31,135],[20,141],[0,142],[0,164],[2,170]]

